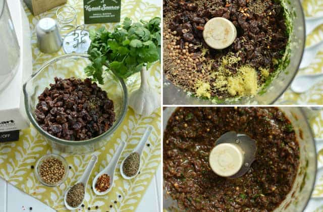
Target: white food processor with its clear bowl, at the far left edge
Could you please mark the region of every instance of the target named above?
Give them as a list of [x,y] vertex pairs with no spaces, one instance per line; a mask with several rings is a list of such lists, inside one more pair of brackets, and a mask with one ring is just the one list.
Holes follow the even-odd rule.
[[29,22],[21,2],[0,0],[0,14],[1,142],[17,140],[18,130],[30,124],[22,85],[32,74],[32,55]]

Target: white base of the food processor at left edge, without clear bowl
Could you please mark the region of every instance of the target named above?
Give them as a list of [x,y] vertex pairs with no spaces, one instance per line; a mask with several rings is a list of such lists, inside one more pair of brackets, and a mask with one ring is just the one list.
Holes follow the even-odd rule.
[[8,6],[10,13],[15,14],[12,19],[20,46],[20,59],[17,74],[0,93],[1,133],[25,129],[30,125],[22,91],[23,83],[32,74],[29,22],[20,1],[8,1]]

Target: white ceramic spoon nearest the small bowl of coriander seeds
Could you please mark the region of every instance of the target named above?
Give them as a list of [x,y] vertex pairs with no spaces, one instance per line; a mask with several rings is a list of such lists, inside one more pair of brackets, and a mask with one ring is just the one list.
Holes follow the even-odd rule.
[[[96,155],[92,155],[92,157],[91,157],[91,159],[90,159],[90,161],[89,161],[89,163],[88,163],[88,165],[87,165],[87,167],[85,168],[85,171],[84,171],[84,173],[83,173],[83,175],[82,175],[82,177],[75,183],[75,184],[78,184],[78,183],[83,183],[83,185],[84,185],[84,197],[85,197],[85,195],[86,195],[86,186],[87,186],[87,182],[89,181],[89,177],[90,177],[90,175],[91,175],[91,173],[92,173],[92,170],[93,170],[93,168],[94,168],[94,165],[95,165],[95,163],[97,162],[97,156]],[[78,205],[78,206],[76,206],[76,207],[71,207],[67,202],[66,202],[66,197],[67,197],[67,193],[70,191],[70,189],[71,189],[72,187],[70,187],[67,191],[66,191],[66,193],[65,193],[65,196],[64,196],[64,203],[65,203],[65,206],[66,206],[66,208],[67,209],[69,209],[69,210],[76,210],[77,208],[79,208],[81,205],[82,205],[82,203],[83,203],[83,201],[84,201],[84,197],[83,197],[83,200],[82,200],[82,202]]]

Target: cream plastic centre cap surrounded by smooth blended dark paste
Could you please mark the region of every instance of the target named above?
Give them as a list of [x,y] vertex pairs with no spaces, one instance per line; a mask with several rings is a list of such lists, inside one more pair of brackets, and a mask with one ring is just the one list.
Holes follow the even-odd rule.
[[236,144],[222,143],[214,147],[209,155],[209,164],[214,173],[230,177],[239,172],[244,163],[244,152]]

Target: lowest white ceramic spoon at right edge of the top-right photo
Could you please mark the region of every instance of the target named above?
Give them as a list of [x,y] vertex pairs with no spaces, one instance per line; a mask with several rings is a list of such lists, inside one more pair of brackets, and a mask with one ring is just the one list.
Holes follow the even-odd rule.
[[321,80],[323,80],[323,74],[300,75],[295,77],[291,89],[295,93],[304,93]]

